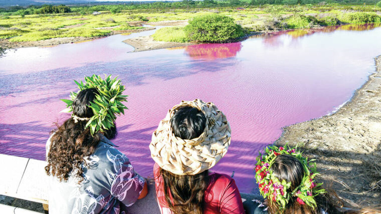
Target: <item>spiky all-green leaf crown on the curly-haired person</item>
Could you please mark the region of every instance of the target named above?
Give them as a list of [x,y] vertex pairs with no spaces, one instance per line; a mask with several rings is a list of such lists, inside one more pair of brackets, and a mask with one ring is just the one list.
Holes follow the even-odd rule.
[[[114,79],[111,75],[105,75],[103,80],[99,75],[93,75],[91,77],[85,77],[85,83],[80,81],[79,83],[74,80],[78,85],[79,91],[77,93],[70,93],[69,99],[61,99],[66,103],[66,109],[61,112],[72,112],[73,111],[73,101],[77,94],[88,88],[96,88],[99,94],[95,95],[93,102],[90,102],[90,108],[93,110],[94,116],[89,119],[86,123],[86,128],[90,127],[91,134],[97,133],[98,131],[104,132],[111,127],[114,127],[114,121],[116,119],[115,115],[124,114],[124,109],[127,109],[125,105],[122,104],[126,101],[127,95],[122,95],[125,90],[124,86],[120,84],[118,77]],[[126,101],[127,102],[127,101]],[[72,115],[75,117],[75,115]]]

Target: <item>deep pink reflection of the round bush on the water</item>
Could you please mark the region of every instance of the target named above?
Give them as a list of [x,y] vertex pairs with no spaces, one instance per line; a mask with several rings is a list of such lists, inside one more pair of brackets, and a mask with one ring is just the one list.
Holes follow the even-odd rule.
[[226,44],[201,44],[185,47],[185,53],[187,53],[192,59],[218,59],[234,57],[240,50],[240,42]]

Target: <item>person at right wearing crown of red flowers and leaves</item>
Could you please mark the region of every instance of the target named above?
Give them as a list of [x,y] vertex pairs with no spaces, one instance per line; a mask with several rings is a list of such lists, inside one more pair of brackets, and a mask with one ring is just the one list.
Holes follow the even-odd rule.
[[[245,201],[248,212],[256,214],[379,214],[381,211],[345,207],[334,191],[315,181],[314,160],[308,160],[296,147],[269,146],[256,158],[255,179],[264,203]],[[266,205],[265,205],[266,204]]]

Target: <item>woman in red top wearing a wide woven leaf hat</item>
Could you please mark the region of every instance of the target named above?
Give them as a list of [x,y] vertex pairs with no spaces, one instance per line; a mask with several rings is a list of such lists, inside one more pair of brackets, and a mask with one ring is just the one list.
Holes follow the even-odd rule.
[[162,214],[243,214],[234,180],[210,173],[227,152],[231,129],[211,102],[182,101],[160,121],[149,145]]

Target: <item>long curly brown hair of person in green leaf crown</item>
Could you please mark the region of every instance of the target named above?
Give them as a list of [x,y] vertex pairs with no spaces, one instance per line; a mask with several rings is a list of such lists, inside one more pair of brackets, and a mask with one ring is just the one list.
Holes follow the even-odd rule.
[[[89,107],[90,102],[99,94],[95,88],[80,91],[75,97],[72,107],[73,114],[80,118],[91,118],[94,116]],[[61,126],[56,123],[50,139],[50,150],[46,161],[45,172],[47,175],[56,176],[59,181],[66,181],[70,174],[75,172],[78,183],[83,181],[83,169],[86,162],[83,157],[94,153],[101,140],[101,135],[96,133],[91,135],[90,128],[85,128],[88,120],[78,120],[73,118],[66,120]],[[116,136],[116,128],[108,130],[104,135],[112,139]]]

